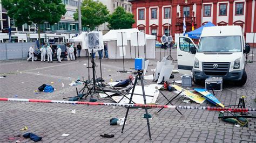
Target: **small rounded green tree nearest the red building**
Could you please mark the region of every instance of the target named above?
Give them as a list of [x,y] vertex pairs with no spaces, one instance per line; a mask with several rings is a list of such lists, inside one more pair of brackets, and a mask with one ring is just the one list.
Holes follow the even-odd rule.
[[110,15],[109,28],[110,29],[127,29],[132,28],[135,23],[133,14],[126,12],[124,8],[118,6],[116,10]]

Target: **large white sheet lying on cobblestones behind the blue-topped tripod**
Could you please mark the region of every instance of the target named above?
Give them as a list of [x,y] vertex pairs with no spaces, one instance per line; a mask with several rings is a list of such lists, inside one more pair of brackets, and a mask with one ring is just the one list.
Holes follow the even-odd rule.
[[[162,85],[159,85],[159,84],[144,85],[145,95],[150,95],[150,96],[146,96],[146,103],[147,104],[156,103],[156,101],[157,101],[159,91],[156,90],[155,87],[158,87],[158,89],[160,89],[162,87]],[[132,92],[132,90],[130,91],[130,93],[131,92]],[[143,99],[143,96],[142,96],[142,94],[143,94],[142,93],[142,86],[137,85],[134,89],[134,94],[141,94],[141,95],[133,95],[132,101],[135,102],[136,104],[144,104],[144,99]],[[153,96],[153,97],[151,97],[151,96]],[[113,96],[112,98],[114,99],[114,101],[119,102],[122,97],[123,96]],[[128,97],[128,98],[126,98],[126,97]],[[129,103],[131,94],[126,95],[126,97],[124,97],[122,99],[122,101],[120,101],[119,103],[121,103],[121,104],[122,103]]]

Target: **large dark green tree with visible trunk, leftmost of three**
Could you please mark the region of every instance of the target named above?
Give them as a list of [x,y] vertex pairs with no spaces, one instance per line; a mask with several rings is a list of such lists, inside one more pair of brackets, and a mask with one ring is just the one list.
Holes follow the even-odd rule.
[[41,45],[40,24],[58,23],[66,13],[62,0],[2,0],[8,16],[14,18],[15,26],[36,24],[39,44]]

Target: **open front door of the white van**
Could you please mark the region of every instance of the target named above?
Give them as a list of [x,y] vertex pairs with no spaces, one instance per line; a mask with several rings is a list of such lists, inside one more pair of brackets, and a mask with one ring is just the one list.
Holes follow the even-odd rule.
[[194,66],[194,56],[191,53],[191,48],[195,47],[196,44],[189,38],[180,36],[177,45],[177,60],[178,70],[181,74],[191,74],[191,70]]

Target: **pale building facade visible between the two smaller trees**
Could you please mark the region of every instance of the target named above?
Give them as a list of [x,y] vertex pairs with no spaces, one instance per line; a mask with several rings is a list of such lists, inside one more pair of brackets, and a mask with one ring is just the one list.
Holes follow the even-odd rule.
[[[130,2],[128,2],[128,0],[95,0],[95,1],[101,2],[104,5],[106,5],[110,13],[113,13],[118,6],[123,7],[127,12],[132,12],[132,5]],[[109,28],[107,28],[107,25],[108,23],[104,23],[98,26],[97,30],[106,32],[109,30]]]

